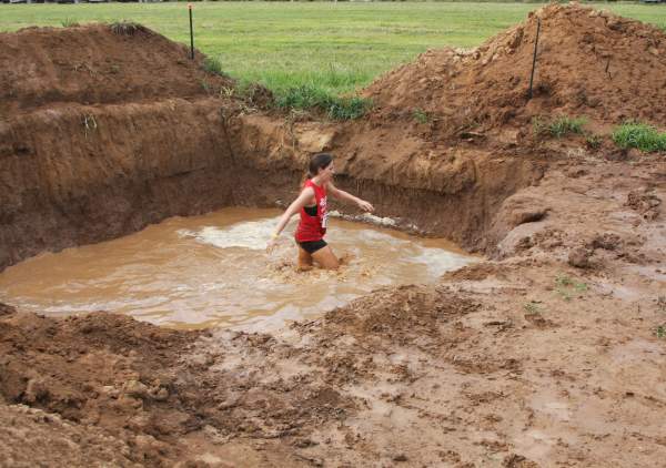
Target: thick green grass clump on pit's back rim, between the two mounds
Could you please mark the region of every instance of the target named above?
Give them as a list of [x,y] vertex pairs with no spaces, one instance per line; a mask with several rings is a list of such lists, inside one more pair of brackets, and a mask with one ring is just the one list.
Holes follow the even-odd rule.
[[354,120],[364,115],[372,103],[356,95],[336,96],[315,84],[302,84],[279,91],[275,105],[284,110],[319,110],[333,120]]

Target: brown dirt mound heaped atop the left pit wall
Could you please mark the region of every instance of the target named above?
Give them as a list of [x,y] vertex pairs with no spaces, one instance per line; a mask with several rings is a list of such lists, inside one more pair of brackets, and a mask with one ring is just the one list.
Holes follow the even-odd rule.
[[0,114],[58,103],[108,104],[206,94],[231,80],[206,73],[203,55],[148,28],[28,28],[0,33]]

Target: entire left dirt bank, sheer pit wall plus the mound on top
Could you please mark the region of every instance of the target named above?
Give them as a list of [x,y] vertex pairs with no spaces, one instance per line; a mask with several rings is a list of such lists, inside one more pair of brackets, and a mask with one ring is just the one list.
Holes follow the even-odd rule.
[[0,269],[229,203],[203,61],[129,23],[0,34]]

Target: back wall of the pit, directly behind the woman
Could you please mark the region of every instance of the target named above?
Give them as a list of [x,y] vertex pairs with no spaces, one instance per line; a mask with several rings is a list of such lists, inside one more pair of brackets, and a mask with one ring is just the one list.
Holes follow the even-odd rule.
[[485,251],[492,248],[485,233],[504,200],[537,183],[545,170],[535,159],[480,149],[442,153],[427,149],[426,141],[410,141],[401,129],[379,132],[365,125],[289,124],[259,114],[234,119],[233,152],[243,154],[235,167],[246,181],[234,189],[234,201],[291,202],[309,155],[330,151],[336,186],[371,201],[375,214],[394,218],[398,227]]

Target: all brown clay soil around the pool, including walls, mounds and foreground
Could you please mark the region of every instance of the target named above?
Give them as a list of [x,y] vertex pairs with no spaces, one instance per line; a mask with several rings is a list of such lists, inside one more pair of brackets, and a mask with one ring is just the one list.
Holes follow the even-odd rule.
[[[659,31],[581,7],[536,16],[558,60],[578,60],[583,45],[569,42],[589,32],[585,43],[610,50],[617,73],[664,67]],[[104,84],[110,71],[94,87],[67,88],[64,64],[31,81],[46,68],[14,77],[0,61],[0,80],[14,90],[0,122],[1,267],[173,214],[284,203],[303,161],[322,149],[339,157],[340,185],[376,202],[380,215],[486,256],[436,284],[375,291],[272,335],[169,330],[104,312],[57,319],[0,305],[0,466],[662,466],[664,155],[535,139],[523,126],[544,112],[585,111],[606,136],[625,116],[664,128],[664,87],[595,81],[592,61],[566,71],[542,52],[541,94],[522,105],[524,83],[503,87],[507,64],[527,60],[536,16],[476,51],[428,52],[381,78],[366,90],[377,108],[346,124],[285,120],[252,99],[211,95],[209,84],[159,90],[125,70],[130,53],[114,59],[134,83],[120,94]],[[59,34],[100,34],[77,50],[165,41],[103,27],[0,41]],[[180,64],[182,48],[160,47],[151,60],[163,61],[167,77],[183,67],[216,80],[218,91],[233,88],[201,63]],[[456,81],[470,77],[478,83]],[[423,79],[445,84],[420,89]],[[581,89],[585,102],[575,101]],[[414,122],[404,111],[414,106],[436,119]],[[460,130],[466,112],[483,119]],[[99,126],[87,128],[85,115]]]

